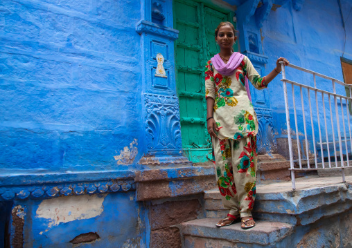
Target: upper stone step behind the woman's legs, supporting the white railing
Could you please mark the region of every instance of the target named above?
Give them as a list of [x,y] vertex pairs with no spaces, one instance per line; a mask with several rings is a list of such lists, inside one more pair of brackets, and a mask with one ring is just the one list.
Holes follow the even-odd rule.
[[[296,191],[292,191],[291,182],[258,185],[253,216],[256,220],[307,225],[324,216],[339,214],[352,208],[352,176],[346,176],[347,184],[341,180],[341,177],[299,178]],[[218,189],[204,193],[204,213],[206,218],[227,216]]]

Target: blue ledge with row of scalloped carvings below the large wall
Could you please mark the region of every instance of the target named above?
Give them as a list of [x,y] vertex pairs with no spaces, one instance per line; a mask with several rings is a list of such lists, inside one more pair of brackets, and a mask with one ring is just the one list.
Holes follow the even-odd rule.
[[134,171],[2,173],[0,200],[53,198],[136,190]]

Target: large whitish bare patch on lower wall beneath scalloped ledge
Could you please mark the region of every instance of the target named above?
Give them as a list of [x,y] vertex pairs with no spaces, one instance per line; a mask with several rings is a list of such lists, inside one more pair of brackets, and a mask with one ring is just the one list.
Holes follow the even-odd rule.
[[76,195],[43,200],[37,209],[37,218],[49,219],[49,228],[73,220],[99,216],[104,211],[105,195]]

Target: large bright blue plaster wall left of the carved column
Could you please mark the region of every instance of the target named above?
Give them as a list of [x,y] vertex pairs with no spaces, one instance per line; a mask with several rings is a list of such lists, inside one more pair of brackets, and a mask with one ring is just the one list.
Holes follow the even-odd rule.
[[114,155],[141,140],[136,6],[1,1],[0,171],[134,167],[140,154],[120,164]]

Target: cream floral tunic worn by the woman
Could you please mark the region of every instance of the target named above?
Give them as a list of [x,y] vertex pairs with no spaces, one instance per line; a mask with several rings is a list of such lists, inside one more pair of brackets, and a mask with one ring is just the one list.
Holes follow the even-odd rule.
[[265,77],[261,77],[247,56],[231,76],[222,76],[209,60],[205,66],[205,97],[215,100],[213,117],[220,129],[220,140],[237,140],[258,133],[258,119],[245,88],[245,77],[257,89],[263,89]]

